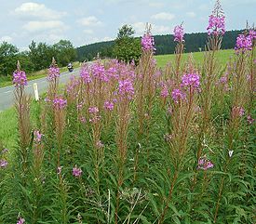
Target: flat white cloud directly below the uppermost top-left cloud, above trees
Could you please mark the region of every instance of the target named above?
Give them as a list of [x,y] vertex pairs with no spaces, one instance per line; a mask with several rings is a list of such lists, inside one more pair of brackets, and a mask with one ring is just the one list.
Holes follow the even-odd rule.
[[23,25],[23,29],[29,33],[50,31],[51,33],[62,33],[68,29],[61,20],[29,21]]

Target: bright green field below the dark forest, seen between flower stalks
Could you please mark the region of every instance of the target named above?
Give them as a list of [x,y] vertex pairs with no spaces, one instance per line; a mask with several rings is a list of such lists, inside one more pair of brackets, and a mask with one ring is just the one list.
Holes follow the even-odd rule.
[[[201,63],[204,59],[204,52],[194,52],[194,53],[185,53],[182,56],[182,61],[185,61],[190,54],[193,54],[193,57],[197,63]],[[226,61],[229,60],[230,57],[234,55],[233,49],[228,50],[220,50],[217,52],[217,59],[219,59],[222,65],[226,64]],[[157,61],[157,65],[161,68],[164,68],[168,62],[174,62],[175,55],[156,55],[155,59]]]

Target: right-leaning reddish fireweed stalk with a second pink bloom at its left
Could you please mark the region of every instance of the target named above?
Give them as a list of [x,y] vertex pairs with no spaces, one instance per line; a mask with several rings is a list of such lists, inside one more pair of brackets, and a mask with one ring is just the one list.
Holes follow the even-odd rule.
[[165,220],[168,204],[172,199],[174,186],[182,171],[185,157],[189,150],[187,141],[195,120],[197,92],[199,89],[200,76],[191,64],[188,70],[183,73],[180,86],[176,86],[176,88],[173,88],[171,91],[172,112],[170,119],[170,137],[168,138],[168,158],[174,171],[170,179],[171,185],[167,199],[164,201],[164,209],[158,219],[158,224],[163,223]]

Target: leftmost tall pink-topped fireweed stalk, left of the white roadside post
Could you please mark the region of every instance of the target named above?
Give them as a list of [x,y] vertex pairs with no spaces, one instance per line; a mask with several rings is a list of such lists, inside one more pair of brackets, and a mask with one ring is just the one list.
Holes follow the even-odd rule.
[[18,114],[18,126],[20,135],[20,152],[23,169],[26,169],[29,156],[29,145],[31,140],[30,122],[30,97],[25,93],[27,77],[24,71],[20,70],[20,61],[17,63],[17,70],[13,72],[13,84],[15,86],[15,108]]

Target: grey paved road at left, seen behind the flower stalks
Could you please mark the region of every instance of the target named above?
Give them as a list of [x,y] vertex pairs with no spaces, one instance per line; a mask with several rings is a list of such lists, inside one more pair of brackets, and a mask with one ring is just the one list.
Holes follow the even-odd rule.
[[[66,83],[71,75],[78,75],[79,69],[75,69],[74,72],[62,72],[60,77],[60,83]],[[27,93],[31,94],[34,98],[34,83],[37,83],[39,95],[47,90],[47,78],[35,79],[28,82],[28,86],[25,87]],[[10,108],[14,103],[14,86],[7,86],[0,88],[0,112]]]

